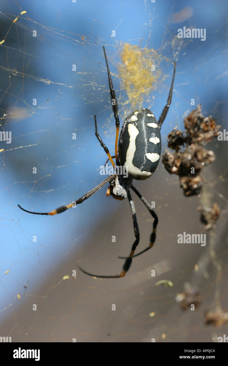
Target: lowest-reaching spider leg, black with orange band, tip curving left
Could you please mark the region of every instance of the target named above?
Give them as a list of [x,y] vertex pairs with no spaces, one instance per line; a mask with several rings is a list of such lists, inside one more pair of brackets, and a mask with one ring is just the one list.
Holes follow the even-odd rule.
[[82,272],[86,273],[86,275],[89,275],[89,276],[92,276],[92,277],[99,277],[99,278],[120,278],[120,277],[124,277],[126,275],[126,272],[128,271],[128,269],[130,268],[131,263],[132,263],[132,258],[134,256],[135,249],[136,249],[136,247],[139,243],[139,227],[138,227],[138,223],[137,223],[137,217],[136,217],[136,214],[135,214],[135,206],[134,206],[134,203],[132,201],[130,191],[128,191],[127,198],[128,198],[129,203],[130,203],[130,208],[131,208],[131,213],[132,213],[135,241],[134,241],[134,243],[131,247],[131,252],[130,252],[129,257],[127,257],[126,261],[124,262],[122,272],[120,273],[120,275],[97,276],[97,275],[92,275],[89,272],[86,272],[85,270],[83,270],[81,267],[78,266],[78,268],[81,269]]

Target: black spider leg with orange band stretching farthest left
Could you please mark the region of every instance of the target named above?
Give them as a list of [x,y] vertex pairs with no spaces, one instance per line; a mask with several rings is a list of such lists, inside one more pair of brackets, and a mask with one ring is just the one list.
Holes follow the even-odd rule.
[[115,179],[115,175],[111,175],[108,178],[106,178],[105,180],[103,180],[103,182],[101,182],[100,184],[98,184],[98,186],[96,186],[95,188],[93,188],[91,191],[89,191],[88,193],[84,194],[81,198],[78,198],[76,201],[69,203],[68,205],[65,206],[60,206],[58,208],[56,208],[55,210],[51,211],[51,212],[32,212],[32,211],[28,211],[25,210],[24,208],[22,208],[20,205],[18,205],[18,207],[28,213],[33,213],[34,215],[56,215],[57,213],[62,213],[66,210],[68,210],[69,208],[75,206],[75,205],[79,205],[79,203],[82,203],[83,201],[85,201],[85,199],[91,197],[94,193],[96,193],[101,187],[103,187],[106,183],[110,182],[111,180]]

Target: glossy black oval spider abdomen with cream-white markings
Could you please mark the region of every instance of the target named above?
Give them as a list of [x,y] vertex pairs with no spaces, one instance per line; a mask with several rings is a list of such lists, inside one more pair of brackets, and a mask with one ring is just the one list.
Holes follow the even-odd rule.
[[161,134],[157,120],[147,109],[131,113],[119,137],[120,164],[134,179],[147,179],[156,170],[161,156]]

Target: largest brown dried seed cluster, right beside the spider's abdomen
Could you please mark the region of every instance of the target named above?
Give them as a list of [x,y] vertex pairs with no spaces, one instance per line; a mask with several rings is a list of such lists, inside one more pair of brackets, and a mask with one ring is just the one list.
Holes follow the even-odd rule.
[[[217,136],[221,126],[217,126],[211,116],[203,117],[199,105],[184,119],[184,126],[185,132],[174,128],[169,133],[168,147],[176,152],[166,150],[162,163],[170,174],[180,176],[180,187],[184,194],[192,196],[199,194],[202,188],[201,169],[215,160],[213,151],[206,150],[203,145]],[[184,144],[186,149],[180,152],[180,146]]]

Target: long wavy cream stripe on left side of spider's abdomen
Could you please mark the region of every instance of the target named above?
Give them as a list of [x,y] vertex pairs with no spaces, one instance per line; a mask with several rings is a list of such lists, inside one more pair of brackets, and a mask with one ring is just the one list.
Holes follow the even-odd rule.
[[144,176],[145,179],[149,178],[150,176],[152,176],[153,173],[146,172],[144,170],[141,171],[139,168],[135,167],[133,164],[134,154],[135,154],[135,150],[136,150],[135,139],[138,136],[139,131],[138,131],[137,127],[135,127],[135,125],[131,124],[131,123],[128,124],[127,128],[128,128],[128,133],[130,136],[130,141],[129,141],[129,146],[128,146],[127,154],[126,154],[126,161],[125,161],[124,165],[126,167],[128,167],[128,173],[131,176],[137,177],[137,178]]

